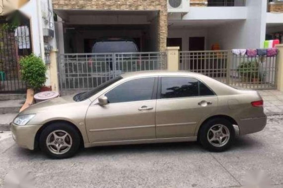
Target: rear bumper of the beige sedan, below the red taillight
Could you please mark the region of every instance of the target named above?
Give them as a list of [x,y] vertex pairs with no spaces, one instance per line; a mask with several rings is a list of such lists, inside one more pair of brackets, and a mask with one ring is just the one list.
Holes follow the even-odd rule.
[[238,122],[240,135],[247,135],[262,131],[266,126],[266,122],[266,116],[241,119],[240,122]]

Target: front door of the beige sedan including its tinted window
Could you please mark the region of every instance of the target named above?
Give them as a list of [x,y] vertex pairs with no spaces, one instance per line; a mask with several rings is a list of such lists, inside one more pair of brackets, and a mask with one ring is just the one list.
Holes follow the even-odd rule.
[[90,105],[85,118],[90,142],[155,139],[157,77],[126,81]]

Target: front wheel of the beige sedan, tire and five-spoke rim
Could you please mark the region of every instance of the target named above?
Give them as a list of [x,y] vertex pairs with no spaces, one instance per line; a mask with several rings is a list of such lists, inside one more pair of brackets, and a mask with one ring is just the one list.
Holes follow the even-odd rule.
[[39,145],[41,150],[51,158],[69,158],[79,149],[80,136],[68,123],[52,123],[42,131]]

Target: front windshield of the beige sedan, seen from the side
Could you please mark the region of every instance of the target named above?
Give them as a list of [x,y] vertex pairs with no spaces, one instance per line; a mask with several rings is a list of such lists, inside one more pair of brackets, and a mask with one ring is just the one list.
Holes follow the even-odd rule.
[[74,95],[73,100],[74,101],[82,101],[85,100],[87,98],[89,98],[90,96],[93,96],[94,94],[97,94],[98,92],[104,90],[105,88],[107,88],[108,86],[114,84],[115,82],[118,82],[119,80],[123,79],[122,76],[118,76],[112,80],[109,80],[107,82],[105,82],[104,84],[101,84],[100,86],[97,86],[96,88],[94,88],[93,90],[90,90],[88,92],[82,92],[79,94]]

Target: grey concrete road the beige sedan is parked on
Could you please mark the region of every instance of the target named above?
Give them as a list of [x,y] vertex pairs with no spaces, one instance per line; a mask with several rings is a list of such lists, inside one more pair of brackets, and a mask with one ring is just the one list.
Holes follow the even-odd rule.
[[267,174],[271,188],[283,188],[282,137],[283,116],[271,116],[264,131],[237,138],[222,153],[184,142],[95,147],[64,160],[8,138],[0,140],[0,187],[17,168],[31,171],[40,188],[240,188],[254,170]]

